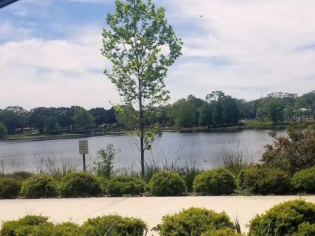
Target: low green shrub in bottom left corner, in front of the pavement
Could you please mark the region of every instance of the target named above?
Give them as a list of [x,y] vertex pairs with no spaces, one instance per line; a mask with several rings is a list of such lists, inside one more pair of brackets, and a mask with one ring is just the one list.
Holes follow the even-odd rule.
[[[34,226],[46,225],[48,217],[41,215],[27,215],[19,220],[9,220],[2,223],[0,235],[1,236],[28,236],[32,235]],[[35,229],[36,230],[36,229]],[[39,234],[33,234],[39,235]]]

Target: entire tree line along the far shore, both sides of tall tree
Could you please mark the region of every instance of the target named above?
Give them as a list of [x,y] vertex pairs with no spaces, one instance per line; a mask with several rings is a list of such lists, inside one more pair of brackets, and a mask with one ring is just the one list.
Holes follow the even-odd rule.
[[[97,127],[118,122],[126,127],[133,121],[124,112],[112,107],[85,110],[79,106],[46,108],[27,111],[19,106],[0,109],[0,133],[22,132],[23,128],[36,128],[40,134],[56,134],[74,128]],[[294,93],[273,92],[252,101],[236,99],[222,91],[213,91],[205,99],[189,95],[173,104],[152,108],[145,125],[156,123],[178,128],[220,127],[234,125],[240,119],[269,119],[273,123],[284,122],[285,117],[313,115],[315,112],[315,90],[298,97]]]

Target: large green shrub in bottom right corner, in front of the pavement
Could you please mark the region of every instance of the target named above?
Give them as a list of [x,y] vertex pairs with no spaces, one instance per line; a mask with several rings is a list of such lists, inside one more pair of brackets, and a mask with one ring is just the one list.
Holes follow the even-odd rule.
[[[278,204],[264,214],[257,214],[249,223],[249,236],[259,229],[268,229],[270,235],[289,236],[298,231],[302,223],[315,223],[315,204],[304,200],[292,200]],[[302,227],[302,226],[301,226]]]

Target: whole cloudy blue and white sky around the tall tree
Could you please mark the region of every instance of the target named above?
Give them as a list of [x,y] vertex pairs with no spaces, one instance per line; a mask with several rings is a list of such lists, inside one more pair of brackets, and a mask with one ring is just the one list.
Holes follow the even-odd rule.
[[[215,90],[250,101],[315,89],[314,0],[152,2],[184,42],[164,79],[170,103]],[[19,0],[1,8],[0,109],[109,109],[119,101],[100,53],[113,11],[114,0]]]

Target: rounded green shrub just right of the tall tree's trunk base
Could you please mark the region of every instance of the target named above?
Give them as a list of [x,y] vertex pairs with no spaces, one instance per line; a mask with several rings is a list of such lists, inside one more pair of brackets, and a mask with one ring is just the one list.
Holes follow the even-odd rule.
[[147,188],[154,196],[180,196],[187,190],[185,180],[179,174],[169,171],[153,174]]

